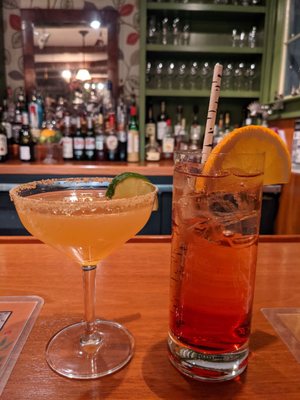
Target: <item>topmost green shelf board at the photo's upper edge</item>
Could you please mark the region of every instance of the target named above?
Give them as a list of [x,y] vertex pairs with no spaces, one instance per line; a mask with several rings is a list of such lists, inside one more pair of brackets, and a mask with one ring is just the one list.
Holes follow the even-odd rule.
[[243,6],[231,4],[201,4],[201,3],[171,3],[171,2],[149,2],[148,10],[158,11],[199,11],[218,13],[240,13],[240,14],[264,14],[265,6]]

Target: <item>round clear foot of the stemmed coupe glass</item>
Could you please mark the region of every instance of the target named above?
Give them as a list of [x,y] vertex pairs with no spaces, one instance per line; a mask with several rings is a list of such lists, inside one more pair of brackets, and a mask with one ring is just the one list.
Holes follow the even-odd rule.
[[134,339],[122,325],[112,321],[95,323],[101,340],[81,345],[85,323],[69,325],[56,333],[46,348],[46,360],[55,372],[67,378],[95,379],[112,374],[133,356]]

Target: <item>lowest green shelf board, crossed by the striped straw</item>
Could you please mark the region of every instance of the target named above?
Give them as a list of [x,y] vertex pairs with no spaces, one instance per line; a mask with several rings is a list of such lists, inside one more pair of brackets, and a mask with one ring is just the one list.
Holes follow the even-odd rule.
[[[150,97],[209,97],[209,90],[190,90],[190,89],[146,89],[146,96]],[[258,90],[224,90],[224,98],[259,98]]]

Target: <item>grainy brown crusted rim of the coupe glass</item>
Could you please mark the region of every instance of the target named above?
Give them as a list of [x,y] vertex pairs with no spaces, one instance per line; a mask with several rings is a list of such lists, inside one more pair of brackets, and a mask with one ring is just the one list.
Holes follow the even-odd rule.
[[[133,197],[127,197],[127,198],[121,198],[121,199],[101,199],[101,200],[93,200],[92,202],[88,203],[86,202],[84,199],[79,199],[76,202],[62,202],[62,201],[58,201],[58,200],[41,200],[41,199],[37,199],[37,198],[32,198],[31,195],[26,196],[26,197],[22,197],[20,195],[20,192],[23,190],[30,190],[30,189],[35,189],[37,187],[37,185],[43,184],[43,185],[50,185],[52,183],[55,182],[108,182],[110,183],[113,180],[113,178],[107,178],[107,177],[101,177],[101,178],[85,178],[85,177],[78,177],[78,178],[52,178],[52,179],[42,179],[42,180],[38,180],[38,181],[32,181],[32,182],[28,182],[28,183],[23,183],[20,184],[18,186],[16,186],[15,188],[11,189],[9,191],[10,194],[10,198],[11,200],[16,203],[27,203],[29,206],[32,204],[35,204],[36,206],[38,204],[42,205],[43,207],[48,206],[51,208],[54,207],[61,207],[61,206],[66,206],[68,205],[68,207],[74,207],[74,208],[78,208],[78,206],[82,206],[84,205],[87,209],[91,208],[91,207],[95,207],[98,206],[100,208],[105,208],[105,207],[111,207],[111,208],[118,208],[118,207],[124,207],[124,208],[131,208],[137,205],[141,205],[143,203],[148,203],[148,201],[152,200],[152,198],[157,194],[158,189],[155,185],[153,185],[151,182],[149,182],[149,185],[151,185],[153,187],[153,191],[150,193],[146,193],[146,194],[140,194],[140,195],[136,195]],[[69,190],[76,190],[76,188],[68,188]],[[78,188],[77,190],[80,190],[80,188]],[[84,190],[84,188],[83,188]]]

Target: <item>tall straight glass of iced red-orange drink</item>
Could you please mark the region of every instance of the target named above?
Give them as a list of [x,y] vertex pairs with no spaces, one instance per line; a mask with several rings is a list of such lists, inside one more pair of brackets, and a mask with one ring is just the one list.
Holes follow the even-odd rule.
[[[211,154],[211,157],[213,155]],[[264,155],[175,156],[169,354],[181,372],[222,381],[244,371],[254,294]]]

